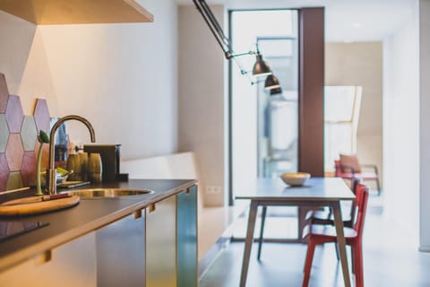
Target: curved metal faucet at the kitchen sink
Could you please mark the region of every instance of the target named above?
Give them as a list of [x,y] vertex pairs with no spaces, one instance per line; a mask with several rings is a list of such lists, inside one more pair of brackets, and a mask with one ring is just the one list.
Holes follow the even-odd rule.
[[59,126],[63,125],[65,121],[68,121],[71,119],[78,120],[82,122],[82,124],[87,126],[88,130],[90,131],[91,143],[96,142],[96,135],[94,133],[94,128],[91,126],[88,119],[80,116],[75,116],[75,115],[65,116],[58,119],[56,124],[52,126],[51,134],[49,135],[49,161],[48,161],[48,167],[47,167],[47,190],[49,191],[50,195],[56,194],[56,164],[55,164],[55,156],[54,156],[54,150],[56,145],[55,144],[56,130],[58,129]]

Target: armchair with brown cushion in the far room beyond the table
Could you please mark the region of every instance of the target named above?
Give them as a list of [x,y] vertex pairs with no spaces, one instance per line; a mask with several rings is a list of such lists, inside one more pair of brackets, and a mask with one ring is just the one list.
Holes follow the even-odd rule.
[[[352,180],[358,178],[361,180],[374,180],[378,190],[378,196],[381,195],[381,185],[379,182],[378,168],[374,164],[359,164],[357,156],[340,154],[340,160],[334,161],[335,176],[338,178]],[[370,169],[364,172],[363,169]]]

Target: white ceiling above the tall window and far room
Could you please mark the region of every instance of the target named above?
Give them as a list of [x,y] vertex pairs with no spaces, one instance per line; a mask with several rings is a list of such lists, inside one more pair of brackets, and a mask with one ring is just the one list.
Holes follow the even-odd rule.
[[[328,42],[378,41],[398,29],[412,15],[417,0],[206,0],[227,9],[325,7]],[[176,0],[193,4],[193,0]]]

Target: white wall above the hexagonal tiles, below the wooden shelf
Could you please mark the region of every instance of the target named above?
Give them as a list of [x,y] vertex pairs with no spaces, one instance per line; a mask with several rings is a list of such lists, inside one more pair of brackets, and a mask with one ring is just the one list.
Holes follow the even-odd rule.
[[[0,71],[25,114],[46,98],[51,116],[87,117],[98,143],[122,143],[124,159],[176,152],[177,8],[141,2],[153,23],[35,27],[0,13],[2,43],[13,43],[1,48]],[[81,124],[69,130],[89,141]]]

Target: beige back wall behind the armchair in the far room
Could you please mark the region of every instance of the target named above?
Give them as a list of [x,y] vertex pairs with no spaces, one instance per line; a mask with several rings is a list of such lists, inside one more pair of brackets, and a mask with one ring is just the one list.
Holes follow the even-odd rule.
[[[382,171],[383,43],[326,43],[325,85],[363,87],[357,128],[357,155],[360,162],[376,164],[378,170]],[[369,181],[368,184],[375,188],[373,182]]]

